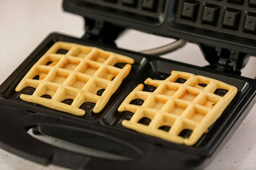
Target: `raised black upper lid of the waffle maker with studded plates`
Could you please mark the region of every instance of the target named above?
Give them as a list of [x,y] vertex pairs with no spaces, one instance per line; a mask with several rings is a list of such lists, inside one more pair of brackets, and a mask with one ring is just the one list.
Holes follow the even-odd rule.
[[90,36],[132,28],[196,43],[217,70],[240,71],[256,55],[255,0],[64,0],[63,8],[84,17]]

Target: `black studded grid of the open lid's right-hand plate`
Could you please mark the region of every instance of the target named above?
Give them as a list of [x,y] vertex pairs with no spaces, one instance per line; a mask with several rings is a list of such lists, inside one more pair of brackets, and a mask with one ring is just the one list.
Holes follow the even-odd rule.
[[179,0],[177,23],[256,38],[255,0]]

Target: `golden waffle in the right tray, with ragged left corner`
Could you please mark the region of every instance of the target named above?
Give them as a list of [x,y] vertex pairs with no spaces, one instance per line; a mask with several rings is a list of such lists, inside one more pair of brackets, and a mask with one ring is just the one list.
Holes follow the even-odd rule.
[[[143,91],[140,84],[126,97],[118,111],[134,114],[130,120],[123,120],[122,125],[186,145],[195,144],[207,133],[237,93],[237,88],[231,85],[180,71],[172,71],[163,81],[148,78],[145,84],[157,89]],[[136,99],[144,102],[131,104]],[[187,131],[190,136],[182,136]]]

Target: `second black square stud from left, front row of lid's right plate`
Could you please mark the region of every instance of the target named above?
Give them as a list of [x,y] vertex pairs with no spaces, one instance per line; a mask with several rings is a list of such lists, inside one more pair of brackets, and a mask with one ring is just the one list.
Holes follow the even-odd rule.
[[206,3],[204,7],[202,23],[216,26],[221,7],[215,4]]

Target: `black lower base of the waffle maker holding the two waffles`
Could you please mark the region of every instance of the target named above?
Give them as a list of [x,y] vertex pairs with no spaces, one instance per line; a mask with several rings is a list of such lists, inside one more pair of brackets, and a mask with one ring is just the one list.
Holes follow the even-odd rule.
[[[74,116],[24,102],[19,98],[20,94],[31,93],[33,89],[15,92],[17,84],[32,65],[58,41],[95,46],[135,60],[130,74],[100,113],[94,114],[88,110],[85,116]],[[148,77],[166,79],[172,70],[216,79],[238,89],[235,98],[221,117],[193,146],[175,144],[137,133],[120,123],[123,119],[128,119],[129,115],[128,112],[117,111],[125,97]],[[149,88],[145,85],[143,91]],[[77,170],[200,170],[209,164],[247,116],[256,102],[255,93],[254,79],[53,33],[0,86],[0,147],[40,164],[55,164]],[[31,128],[36,130],[35,132],[67,142],[131,159],[104,159],[54,147],[30,136],[27,131]]]

